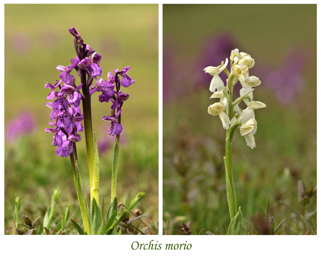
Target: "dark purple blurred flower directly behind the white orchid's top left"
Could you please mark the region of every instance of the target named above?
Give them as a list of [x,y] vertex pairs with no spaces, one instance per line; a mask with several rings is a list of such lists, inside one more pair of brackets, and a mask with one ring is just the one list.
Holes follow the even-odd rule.
[[[196,73],[196,86],[209,87],[212,77],[204,73],[203,69],[208,66],[221,65],[227,56],[230,56],[231,49],[236,48],[236,43],[228,34],[214,35],[207,40],[204,40],[200,46],[199,55],[195,62]],[[226,67],[230,70],[229,65]],[[223,81],[226,81],[224,72],[219,74]]]

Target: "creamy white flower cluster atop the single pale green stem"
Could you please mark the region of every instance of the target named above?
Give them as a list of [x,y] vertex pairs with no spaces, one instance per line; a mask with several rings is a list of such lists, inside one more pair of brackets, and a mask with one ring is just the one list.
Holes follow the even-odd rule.
[[[261,81],[256,76],[249,76],[248,69],[255,64],[254,59],[244,53],[239,52],[239,49],[234,49],[230,55],[230,72],[226,69],[228,59],[225,63],[217,67],[209,66],[204,69],[205,73],[210,73],[213,78],[210,84],[210,91],[213,95],[210,98],[220,98],[219,102],[215,102],[208,107],[210,115],[219,115],[224,129],[230,129],[231,126],[239,127],[240,133],[245,137],[247,145],[251,149],[256,147],[254,134],[256,132],[257,123],[255,120],[254,110],[257,108],[266,107],[261,101],[253,100],[253,88],[258,86]],[[219,77],[219,74],[224,71],[228,79],[227,85]],[[233,86],[240,81],[242,88],[240,90],[240,97],[232,102]],[[239,103],[244,101],[247,108],[239,108]]]

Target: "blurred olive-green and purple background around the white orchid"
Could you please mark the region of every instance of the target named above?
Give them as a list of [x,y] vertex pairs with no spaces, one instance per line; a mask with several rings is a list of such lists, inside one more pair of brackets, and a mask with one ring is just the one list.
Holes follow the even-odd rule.
[[212,76],[203,69],[229,59],[234,48],[255,59],[249,75],[262,83],[254,100],[267,106],[255,111],[255,149],[238,131],[233,138],[233,177],[247,231],[264,233],[270,196],[270,219],[275,225],[287,219],[277,234],[309,233],[295,210],[314,233],[316,4],[163,4],[163,233],[176,234],[172,223],[183,221],[192,221],[193,234],[228,229],[225,130],[207,113],[217,99],[210,99]]

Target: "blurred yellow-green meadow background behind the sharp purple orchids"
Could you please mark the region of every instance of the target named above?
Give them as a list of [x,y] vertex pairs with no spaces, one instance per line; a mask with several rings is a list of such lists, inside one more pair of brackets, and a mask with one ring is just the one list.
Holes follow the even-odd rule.
[[[135,84],[122,90],[130,98],[122,107],[117,197],[131,200],[138,191],[146,192],[137,207],[150,226],[158,222],[158,5],[5,4],[4,124],[22,111],[35,117],[33,132],[5,143],[5,234],[13,234],[9,214],[16,196],[23,200],[21,215],[34,220],[43,217],[57,186],[61,188],[60,208],[64,211],[70,202],[72,218],[81,220],[70,160],[56,156],[52,135],[44,131],[50,127],[51,113],[45,106],[50,90],[44,85],[59,79],[57,65],[67,66],[76,56],[74,37],[68,31],[71,27],[102,55],[104,79],[114,69],[131,66],[129,75]],[[110,103],[100,103],[98,95],[91,98],[92,122],[98,144],[108,145],[99,155],[100,204],[105,195],[107,211],[115,137],[108,134],[110,124],[101,120],[101,116],[110,115]],[[80,134],[79,166],[89,195],[85,138],[83,132]],[[57,216],[61,212],[57,209]]]

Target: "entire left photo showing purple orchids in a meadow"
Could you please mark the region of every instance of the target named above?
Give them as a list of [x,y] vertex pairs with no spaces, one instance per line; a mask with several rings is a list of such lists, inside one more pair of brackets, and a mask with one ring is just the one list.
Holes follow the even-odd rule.
[[5,235],[158,235],[158,8],[4,5]]

